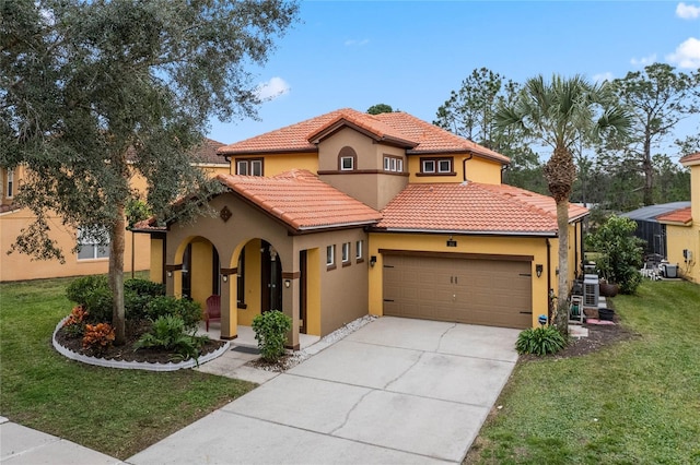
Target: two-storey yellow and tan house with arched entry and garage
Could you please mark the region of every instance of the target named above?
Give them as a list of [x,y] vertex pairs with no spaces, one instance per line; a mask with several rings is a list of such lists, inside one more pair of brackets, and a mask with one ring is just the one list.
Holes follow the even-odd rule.
[[[332,111],[219,148],[215,216],[152,235],[152,279],[205,303],[221,337],[267,310],[323,336],[370,314],[537,325],[557,283],[551,198],[501,183],[509,158],[405,112]],[[570,206],[569,278],[582,219]]]

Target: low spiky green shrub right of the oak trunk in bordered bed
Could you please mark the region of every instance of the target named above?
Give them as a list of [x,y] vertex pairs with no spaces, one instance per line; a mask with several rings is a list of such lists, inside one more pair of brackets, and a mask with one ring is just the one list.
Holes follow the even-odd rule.
[[163,348],[177,354],[176,359],[197,360],[207,341],[207,336],[187,334],[183,319],[167,314],[155,319],[151,331],[142,335],[135,347],[137,350],[143,347]]

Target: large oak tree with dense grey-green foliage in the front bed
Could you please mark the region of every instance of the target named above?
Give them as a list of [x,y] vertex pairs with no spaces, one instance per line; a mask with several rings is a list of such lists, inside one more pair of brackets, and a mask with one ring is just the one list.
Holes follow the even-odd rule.
[[16,0],[0,3],[0,165],[30,177],[35,220],[15,249],[62,259],[50,215],[109,243],[116,343],[124,342],[125,205],[148,184],[162,218],[212,189],[190,153],[212,117],[254,117],[249,64],[296,20],[281,0]]

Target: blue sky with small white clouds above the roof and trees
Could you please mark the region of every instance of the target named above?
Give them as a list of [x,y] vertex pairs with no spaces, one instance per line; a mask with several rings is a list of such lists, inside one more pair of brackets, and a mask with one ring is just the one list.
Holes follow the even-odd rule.
[[[211,139],[233,143],[380,103],[432,121],[481,67],[516,82],[622,78],[657,61],[700,68],[699,0],[302,1],[300,16],[267,64],[249,68],[273,95],[260,121],[214,120]],[[686,121],[678,132],[697,127]]]

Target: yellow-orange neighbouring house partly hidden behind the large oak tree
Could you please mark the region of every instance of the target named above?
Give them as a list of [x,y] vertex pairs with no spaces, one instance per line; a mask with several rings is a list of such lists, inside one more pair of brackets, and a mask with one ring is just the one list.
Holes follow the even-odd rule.
[[[211,176],[229,172],[229,164],[217,155],[217,148],[222,145],[220,142],[206,140],[205,144],[192,155],[192,163],[209,171]],[[20,231],[34,219],[30,210],[19,208],[14,204],[14,196],[25,176],[27,172],[23,166],[15,169],[0,167],[0,181],[2,182],[0,195],[0,282],[107,273],[109,248],[98,246],[94,238],[81,235],[80,230],[66,227],[57,215],[48,218],[49,227],[51,228],[51,238],[63,251],[66,263],[61,264],[58,260],[37,261],[19,252],[8,254]],[[145,190],[145,182],[139,177],[133,178],[132,186],[141,192]],[[75,245],[80,245],[78,253],[72,252]],[[131,271],[132,258],[135,270],[148,270],[150,266],[148,237],[135,235],[132,241],[131,233],[127,231],[125,245],[125,271]]]

